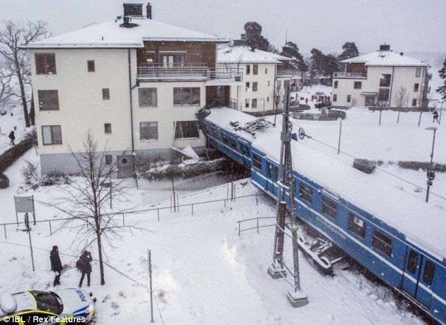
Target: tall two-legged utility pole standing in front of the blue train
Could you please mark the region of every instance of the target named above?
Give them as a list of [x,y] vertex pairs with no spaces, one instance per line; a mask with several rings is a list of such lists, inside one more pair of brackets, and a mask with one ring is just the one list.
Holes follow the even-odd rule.
[[[268,268],[268,274],[273,279],[285,276],[283,269],[283,239],[284,239],[284,210],[286,210],[286,190],[290,201],[291,234],[293,243],[294,262],[294,290],[288,291],[287,298],[293,307],[307,305],[308,297],[300,292],[299,255],[298,255],[298,227],[295,224],[295,181],[293,178],[293,158],[291,156],[291,140],[293,124],[289,120],[290,87],[286,85],[283,107],[283,120],[281,132],[281,153],[279,162],[279,181],[277,182],[277,211],[276,231],[274,233],[274,253],[272,265]],[[285,274],[285,275],[284,275]]]

